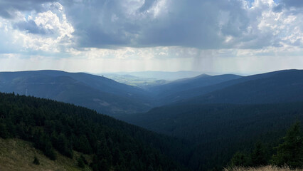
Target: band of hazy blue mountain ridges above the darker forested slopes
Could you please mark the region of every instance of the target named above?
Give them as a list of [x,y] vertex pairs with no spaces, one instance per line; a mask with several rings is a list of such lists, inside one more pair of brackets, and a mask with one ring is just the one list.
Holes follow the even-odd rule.
[[181,103],[284,103],[303,100],[303,71],[253,76],[201,74],[146,89],[103,76],[64,71],[1,72],[0,91],[82,105],[108,115],[144,113]]

